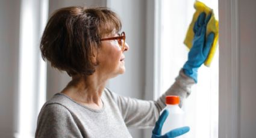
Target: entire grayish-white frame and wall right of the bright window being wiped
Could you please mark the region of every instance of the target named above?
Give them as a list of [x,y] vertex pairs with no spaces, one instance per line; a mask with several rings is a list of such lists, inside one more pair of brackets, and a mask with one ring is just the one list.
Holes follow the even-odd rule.
[[255,137],[256,1],[219,1],[219,137]]

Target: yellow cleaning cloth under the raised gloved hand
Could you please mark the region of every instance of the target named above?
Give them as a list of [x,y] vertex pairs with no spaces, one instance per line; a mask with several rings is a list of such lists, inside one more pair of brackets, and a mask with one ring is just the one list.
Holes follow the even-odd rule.
[[211,14],[211,19],[209,20],[209,22],[207,24],[206,37],[208,36],[208,34],[210,34],[210,32],[213,32],[214,40],[213,40],[213,44],[211,46],[210,52],[207,56],[207,59],[204,62],[204,65],[209,67],[211,64],[211,61],[213,59],[214,53],[216,52],[216,48],[217,48],[217,40],[219,38],[219,22],[215,19],[213,10],[211,8],[207,7],[207,5],[205,5],[204,3],[200,2],[200,1],[196,1],[194,4],[194,7],[196,9],[196,12],[194,13],[193,20],[189,25],[189,29],[187,31],[187,35],[184,40],[184,44],[186,44],[186,46],[189,49],[192,47],[192,42],[193,42],[193,38],[194,38],[193,26],[195,25],[195,22],[198,19],[199,14],[204,12],[206,14],[205,17],[207,17],[208,14]]

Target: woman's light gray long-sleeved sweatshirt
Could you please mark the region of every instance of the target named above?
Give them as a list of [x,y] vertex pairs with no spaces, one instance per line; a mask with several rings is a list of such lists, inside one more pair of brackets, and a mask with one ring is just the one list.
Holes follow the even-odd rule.
[[67,95],[55,94],[39,113],[36,137],[131,137],[128,127],[154,127],[166,106],[166,95],[179,95],[181,106],[194,83],[181,70],[175,83],[157,101],[122,97],[105,88],[100,110],[76,103]]

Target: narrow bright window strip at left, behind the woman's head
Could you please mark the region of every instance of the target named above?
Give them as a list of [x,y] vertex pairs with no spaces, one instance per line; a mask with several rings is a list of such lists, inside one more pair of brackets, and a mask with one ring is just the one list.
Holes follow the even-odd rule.
[[37,115],[46,100],[46,62],[39,50],[48,17],[48,1],[21,1],[17,130],[14,137],[34,137]]

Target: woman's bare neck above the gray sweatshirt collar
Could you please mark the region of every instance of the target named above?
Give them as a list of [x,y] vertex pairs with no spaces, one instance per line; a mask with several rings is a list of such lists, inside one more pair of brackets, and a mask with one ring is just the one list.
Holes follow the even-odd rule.
[[95,73],[91,76],[74,76],[61,93],[72,100],[92,109],[101,109],[103,104],[101,95],[107,80],[100,79]]

